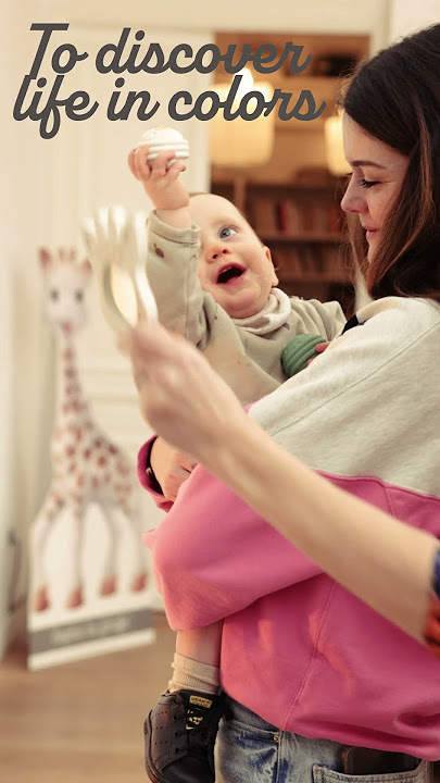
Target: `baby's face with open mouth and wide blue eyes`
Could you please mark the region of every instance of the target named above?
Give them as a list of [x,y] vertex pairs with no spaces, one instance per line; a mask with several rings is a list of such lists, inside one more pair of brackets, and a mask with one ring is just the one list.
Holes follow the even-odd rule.
[[262,310],[278,283],[271,251],[230,201],[212,194],[192,196],[189,210],[200,226],[199,279],[230,318]]

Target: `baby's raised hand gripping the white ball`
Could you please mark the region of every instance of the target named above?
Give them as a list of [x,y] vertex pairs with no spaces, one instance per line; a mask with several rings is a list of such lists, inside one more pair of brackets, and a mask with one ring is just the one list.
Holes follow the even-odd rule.
[[186,165],[175,160],[167,169],[167,163],[175,158],[173,151],[161,152],[155,160],[148,161],[149,147],[141,145],[131,150],[128,165],[131,174],[142,183],[147,196],[158,210],[176,210],[188,207],[188,191],[180,179]]

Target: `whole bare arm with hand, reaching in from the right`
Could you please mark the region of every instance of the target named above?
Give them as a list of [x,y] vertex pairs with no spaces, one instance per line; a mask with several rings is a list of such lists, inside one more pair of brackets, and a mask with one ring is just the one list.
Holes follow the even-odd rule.
[[131,358],[142,412],[156,432],[191,451],[323,570],[422,641],[435,536],[332,486],[287,453],[246,417],[203,357],[160,325],[134,331]]

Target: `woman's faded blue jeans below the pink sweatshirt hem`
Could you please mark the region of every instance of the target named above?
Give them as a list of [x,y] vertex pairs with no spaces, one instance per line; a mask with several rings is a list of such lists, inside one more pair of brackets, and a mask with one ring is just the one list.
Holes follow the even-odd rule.
[[349,775],[341,769],[340,743],[279,731],[227,698],[216,755],[216,783],[427,783],[430,763],[411,772]]

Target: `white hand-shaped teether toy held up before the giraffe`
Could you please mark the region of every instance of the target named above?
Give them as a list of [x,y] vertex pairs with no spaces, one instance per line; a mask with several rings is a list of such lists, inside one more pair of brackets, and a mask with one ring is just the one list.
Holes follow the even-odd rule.
[[118,333],[134,323],[122,311],[112,287],[112,269],[128,275],[136,297],[137,318],[156,319],[158,308],[148,282],[147,217],[143,212],[128,214],[124,207],[102,207],[83,226],[83,237],[93,266],[103,314]]

